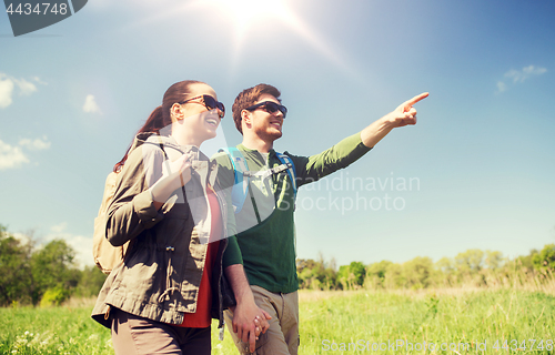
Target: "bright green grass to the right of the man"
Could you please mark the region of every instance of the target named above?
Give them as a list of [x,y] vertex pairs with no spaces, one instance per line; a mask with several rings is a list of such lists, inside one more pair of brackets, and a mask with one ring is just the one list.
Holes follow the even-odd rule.
[[[477,343],[484,344],[485,354],[527,353],[518,351],[522,341],[525,346],[534,344],[534,354],[553,354],[545,345],[553,344],[555,326],[555,297],[525,291],[477,291],[434,293],[357,292],[346,296],[334,296],[301,304],[301,344],[303,354],[327,354],[334,348],[355,353],[357,349],[381,354],[424,354],[414,347],[424,342],[453,348],[464,354],[477,352]],[[508,349],[501,348],[507,341]],[[518,345],[511,343],[517,341]],[[537,349],[544,339],[544,351]],[[383,344],[403,344],[391,351],[379,351]],[[476,343],[477,341],[477,343]],[[500,341],[498,351],[494,349]],[[401,343],[403,342],[403,343]],[[336,346],[334,346],[334,343]],[[413,351],[406,343],[413,344]],[[460,343],[467,343],[471,349],[461,351]],[[374,345],[375,344],[375,345]],[[356,346],[355,346],[356,345]],[[511,352],[511,346],[516,352]],[[333,346],[333,347],[332,347]],[[325,349],[329,351],[325,351]],[[382,345],[382,349],[385,348]],[[337,352],[340,353],[340,352]],[[451,351],[427,352],[428,354],[454,354]]]

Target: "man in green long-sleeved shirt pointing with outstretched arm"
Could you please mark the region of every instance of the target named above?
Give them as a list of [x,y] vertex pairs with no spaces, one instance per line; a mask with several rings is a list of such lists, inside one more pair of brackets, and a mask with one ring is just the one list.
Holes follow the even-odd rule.
[[[249,168],[249,190],[244,205],[235,214],[238,243],[246,277],[256,305],[270,314],[270,328],[260,335],[255,353],[297,354],[299,347],[299,281],[295,267],[293,169],[273,150],[273,142],[282,136],[285,106],[280,91],[259,84],[241,92],[233,103],[233,120],[243,134],[236,149]],[[296,187],[317,181],[339,169],[346,168],[382,140],[394,128],[416,123],[413,105],[428,94],[420,94],[393,112],[353,134],[329,150],[312,156],[292,155]],[[234,168],[228,154],[216,155],[223,186],[234,183]],[[226,311],[228,326],[233,313]],[[242,354],[249,354],[245,344],[230,332]]]

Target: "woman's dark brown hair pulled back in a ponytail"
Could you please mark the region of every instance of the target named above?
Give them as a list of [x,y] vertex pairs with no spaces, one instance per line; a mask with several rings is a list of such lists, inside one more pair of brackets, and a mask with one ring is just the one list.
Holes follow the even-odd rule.
[[[191,85],[193,84],[203,84],[202,81],[196,80],[184,80],[174,83],[164,93],[164,98],[162,99],[162,104],[152,111],[152,113],[147,119],[147,122],[137,131],[137,134],[143,132],[153,132],[160,134],[160,130],[170,125],[172,123],[172,119],[170,115],[170,109],[176,102],[184,101],[189,99],[191,93]],[[135,134],[135,135],[137,135]],[[128,160],[129,150],[128,148],[125,155],[123,155],[122,160],[120,160],[114,166],[113,171],[119,172],[125,161]]]

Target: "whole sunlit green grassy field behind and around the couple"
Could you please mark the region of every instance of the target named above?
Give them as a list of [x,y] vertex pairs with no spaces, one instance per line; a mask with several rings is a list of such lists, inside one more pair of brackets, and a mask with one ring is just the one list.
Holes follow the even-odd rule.
[[[113,354],[90,303],[0,308],[0,354]],[[555,354],[555,297],[542,292],[302,291],[300,312],[300,354]],[[238,354],[215,326],[212,346]]]

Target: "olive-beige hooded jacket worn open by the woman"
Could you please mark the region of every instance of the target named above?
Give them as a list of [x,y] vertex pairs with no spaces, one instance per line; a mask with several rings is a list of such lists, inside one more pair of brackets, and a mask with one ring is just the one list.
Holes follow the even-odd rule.
[[[191,180],[157,210],[149,187],[162,175],[164,152],[172,161],[183,153],[194,158]],[[239,247],[234,235],[226,237],[226,224],[233,229],[233,207],[218,191],[216,172],[218,165],[195,146],[178,145],[171,138],[152,133],[138,134],[118,178],[105,235],[114,246],[128,241],[132,245],[100,291],[92,312],[95,321],[110,327],[111,307],[170,324],[181,324],[185,313],[196,311],[211,232],[210,204],[204,193],[210,183],[215,187],[224,222],[212,266],[212,317],[223,324],[222,312],[234,302],[223,275],[223,255],[228,248],[232,256]]]

